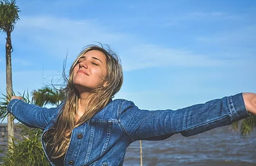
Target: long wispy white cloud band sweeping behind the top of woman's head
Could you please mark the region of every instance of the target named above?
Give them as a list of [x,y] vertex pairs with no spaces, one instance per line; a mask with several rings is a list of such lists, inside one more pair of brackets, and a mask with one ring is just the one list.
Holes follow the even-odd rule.
[[[212,13],[221,15],[222,13]],[[17,25],[19,40],[29,40],[40,45],[45,51],[54,52],[63,58],[69,50],[71,60],[81,48],[92,41],[108,43],[118,48],[124,71],[150,67],[219,67],[241,64],[235,59],[218,59],[210,55],[200,55],[190,50],[164,48],[156,44],[145,43],[133,34],[113,32],[96,20],[71,20],[54,17],[23,17]],[[22,33],[21,33],[22,32]],[[21,46],[25,48],[24,45]],[[31,49],[31,48],[29,48]],[[23,62],[24,65],[29,63]]]

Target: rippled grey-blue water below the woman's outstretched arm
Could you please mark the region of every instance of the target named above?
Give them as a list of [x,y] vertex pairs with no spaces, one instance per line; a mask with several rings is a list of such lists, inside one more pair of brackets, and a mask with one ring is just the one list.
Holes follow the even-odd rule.
[[[230,128],[142,141],[143,166],[256,166],[256,133],[243,138]],[[0,138],[0,144],[6,144],[6,135]],[[124,166],[140,166],[139,141],[127,148]]]

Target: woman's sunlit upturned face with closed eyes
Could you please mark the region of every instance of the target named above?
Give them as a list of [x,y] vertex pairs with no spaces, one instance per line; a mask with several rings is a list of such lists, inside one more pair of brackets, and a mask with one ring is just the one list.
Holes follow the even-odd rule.
[[81,92],[89,92],[103,84],[106,76],[106,55],[90,50],[82,55],[73,69],[73,84]]

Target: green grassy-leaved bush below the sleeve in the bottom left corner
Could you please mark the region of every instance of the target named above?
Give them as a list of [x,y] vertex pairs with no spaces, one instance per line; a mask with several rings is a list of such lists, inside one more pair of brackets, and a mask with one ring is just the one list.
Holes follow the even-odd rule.
[[40,137],[41,129],[31,129],[21,124],[19,139],[12,138],[12,151],[2,146],[5,156],[0,158],[1,166],[50,166],[44,155]]

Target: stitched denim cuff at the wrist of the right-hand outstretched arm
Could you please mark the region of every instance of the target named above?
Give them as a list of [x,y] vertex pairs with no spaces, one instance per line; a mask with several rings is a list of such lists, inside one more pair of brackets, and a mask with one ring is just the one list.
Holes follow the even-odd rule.
[[249,112],[244,105],[243,93],[237,93],[228,97],[228,107],[232,113],[233,120],[238,121],[249,117]]

